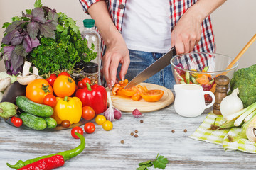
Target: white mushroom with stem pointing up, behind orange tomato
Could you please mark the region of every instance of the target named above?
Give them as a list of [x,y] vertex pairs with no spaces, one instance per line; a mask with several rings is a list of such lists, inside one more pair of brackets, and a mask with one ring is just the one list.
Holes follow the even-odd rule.
[[28,62],[28,61],[24,62],[23,72],[22,74],[17,76],[17,81],[19,84],[28,85],[31,81],[36,79],[36,74],[29,75],[30,67],[31,67],[31,62]]

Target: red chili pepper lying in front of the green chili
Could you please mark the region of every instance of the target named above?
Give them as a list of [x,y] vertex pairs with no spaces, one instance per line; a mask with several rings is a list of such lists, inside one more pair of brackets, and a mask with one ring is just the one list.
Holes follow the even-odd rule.
[[64,165],[64,158],[61,155],[54,155],[53,157],[48,157],[44,159],[40,159],[37,162],[33,162],[31,164],[28,164],[26,166],[23,166],[21,169],[18,170],[50,170],[55,169],[60,166]]

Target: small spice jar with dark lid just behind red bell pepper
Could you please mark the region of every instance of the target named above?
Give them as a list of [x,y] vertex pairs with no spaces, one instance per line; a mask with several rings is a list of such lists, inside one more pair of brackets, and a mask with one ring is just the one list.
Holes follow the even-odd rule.
[[95,62],[87,62],[84,65],[84,73],[85,77],[88,77],[91,81],[90,85],[98,84],[99,82],[99,66]]

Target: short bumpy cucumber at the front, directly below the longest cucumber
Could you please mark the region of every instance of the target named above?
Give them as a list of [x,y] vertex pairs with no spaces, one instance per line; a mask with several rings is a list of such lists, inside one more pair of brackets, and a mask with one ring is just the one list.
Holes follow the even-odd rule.
[[37,117],[36,115],[31,115],[30,113],[21,113],[20,118],[23,122],[23,125],[26,125],[29,128],[34,130],[43,130],[47,127],[46,120],[43,118]]

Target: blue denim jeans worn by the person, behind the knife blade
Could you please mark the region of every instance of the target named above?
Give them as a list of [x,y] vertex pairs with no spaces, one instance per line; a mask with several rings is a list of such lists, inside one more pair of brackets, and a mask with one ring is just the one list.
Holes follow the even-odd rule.
[[[150,64],[158,60],[164,53],[154,53],[154,52],[142,52],[137,50],[129,50],[130,64],[125,75],[125,79],[131,81],[137,74],[142,72]],[[119,75],[121,64],[117,69],[117,75]],[[168,89],[173,89],[175,83],[174,76],[171,72],[171,64],[169,64],[160,72],[154,74],[152,77],[144,81],[150,84],[159,84],[160,86],[165,86]]]

